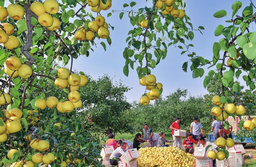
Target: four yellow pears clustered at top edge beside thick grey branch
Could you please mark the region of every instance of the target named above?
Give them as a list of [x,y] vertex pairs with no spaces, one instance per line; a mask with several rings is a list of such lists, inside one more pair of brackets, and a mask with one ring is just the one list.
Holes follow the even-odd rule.
[[44,3],[35,1],[31,3],[30,10],[38,16],[38,22],[49,31],[55,31],[60,28],[59,19],[52,17],[59,11],[59,3],[56,0],[46,0]]

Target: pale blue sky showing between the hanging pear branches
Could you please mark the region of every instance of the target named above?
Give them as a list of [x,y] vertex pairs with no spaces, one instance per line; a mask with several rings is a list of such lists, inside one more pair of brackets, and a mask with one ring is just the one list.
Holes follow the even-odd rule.
[[[120,3],[122,2],[122,3]],[[122,10],[123,3],[130,3],[131,0],[112,0],[112,7],[101,12],[101,15],[106,16],[112,10]],[[145,0],[137,0],[137,5],[134,6],[135,9],[145,6]],[[227,17],[214,18],[213,14],[218,10],[226,10],[227,16],[232,16],[231,5],[234,1],[231,0],[188,0],[186,2],[186,14],[191,18],[191,23],[194,28],[198,26],[204,26],[203,35],[199,31],[194,31],[195,37],[193,41],[189,41],[194,45],[191,51],[196,52],[197,55],[212,60],[212,45],[214,42],[218,42],[222,36],[215,37],[214,30],[219,25],[222,24],[227,26],[225,20]],[[238,11],[239,15],[244,5],[249,5],[249,0],[242,0],[243,7]],[[148,0],[147,6],[152,6],[152,1]],[[130,7],[125,8],[130,10]],[[96,16],[96,13],[93,13]],[[113,13],[111,17],[106,18],[106,22],[114,26],[114,31],[110,30],[110,37],[112,39],[111,47],[107,46],[106,52],[101,47],[97,45],[94,48],[94,52],[90,52],[89,57],[80,56],[78,60],[74,62],[74,68],[78,71],[83,71],[93,76],[94,79],[103,76],[103,74],[108,74],[114,81],[122,83],[126,86],[132,88],[126,93],[127,101],[138,101],[145,91],[145,87],[139,84],[139,78],[135,70],[129,72],[129,76],[126,77],[123,74],[123,66],[125,60],[122,57],[122,52],[126,44],[127,33],[130,29],[133,29],[132,25],[129,23],[128,14],[124,14],[122,20],[119,19],[119,12]],[[96,43],[100,43],[100,41]],[[105,40],[106,41],[106,40]],[[188,68],[188,72],[185,73],[182,70],[182,65],[184,62],[188,61],[189,58],[186,54],[180,55],[181,49],[175,48],[173,45],[168,47],[168,54],[165,60],[161,61],[155,69],[151,70],[151,73],[156,76],[157,82],[163,84],[163,96],[168,96],[170,93],[176,91],[176,89],[188,89],[189,94],[192,96],[200,96],[207,94],[207,90],[203,87],[204,76],[207,75],[209,69],[208,66],[204,68],[205,75],[202,78],[192,78],[192,72]],[[83,62],[83,63],[81,63]],[[189,65],[190,66],[190,65]],[[136,68],[136,67],[134,67]],[[211,68],[214,70],[214,68]],[[153,101],[152,101],[153,102]]]

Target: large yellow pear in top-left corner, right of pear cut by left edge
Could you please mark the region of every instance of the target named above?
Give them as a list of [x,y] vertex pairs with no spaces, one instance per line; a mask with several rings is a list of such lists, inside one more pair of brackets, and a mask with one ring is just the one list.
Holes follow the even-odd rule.
[[24,17],[25,11],[21,5],[10,4],[7,6],[8,15],[10,18],[20,20]]

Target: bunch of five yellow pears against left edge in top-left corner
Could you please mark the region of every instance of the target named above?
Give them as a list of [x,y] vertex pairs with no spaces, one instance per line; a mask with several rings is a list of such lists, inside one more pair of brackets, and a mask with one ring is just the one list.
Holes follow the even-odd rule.
[[[7,9],[0,6],[0,21],[7,19],[7,16],[14,20],[19,20],[24,17],[24,9],[21,5],[10,4]],[[0,44],[3,44],[7,49],[13,49],[20,45],[17,37],[12,36],[14,27],[10,23],[0,24]]]

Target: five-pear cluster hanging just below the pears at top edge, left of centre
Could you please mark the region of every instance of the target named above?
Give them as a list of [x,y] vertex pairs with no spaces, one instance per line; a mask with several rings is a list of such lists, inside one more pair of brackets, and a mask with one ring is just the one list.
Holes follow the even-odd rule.
[[105,18],[101,15],[96,16],[95,21],[88,23],[88,29],[80,26],[75,32],[75,39],[91,41],[94,39],[96,32],[98,32],[98,36],[102,39],[109,37],[108,23],[105,22]]

